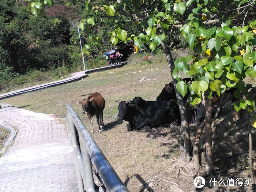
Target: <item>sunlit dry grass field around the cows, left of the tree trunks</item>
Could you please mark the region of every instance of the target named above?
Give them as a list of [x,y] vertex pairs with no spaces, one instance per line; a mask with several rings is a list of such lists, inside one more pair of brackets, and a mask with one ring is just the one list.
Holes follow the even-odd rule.
[[[116,120],[118,103],[115,100],[127,101],[140,96],[154,101],[163,86],[171,81],[164,54],[153,56],[151,65],[140,65],[143,58],[143,54],[131,56],[128,65],[122,68],[89,74],[78,82],[18,95],[1,102],[59,117],[65,117],[65,105],[69,102],[90,131],[88,118],[76,102],[97,91],[106,101],[103,121],[109,130],[101,134],[95,132],[92,136],[129,191],[144,191],[148,186],[155,192],[171,191],[173,184],[184,191],[195,191],[194,178],[189,172],[192,162],[187,166],[178,158],[178,127],[128,132],[127,122]],[[140,82],[144,76],[150,81]],[[93,117],[93,124],[96,131],[96,117]]]

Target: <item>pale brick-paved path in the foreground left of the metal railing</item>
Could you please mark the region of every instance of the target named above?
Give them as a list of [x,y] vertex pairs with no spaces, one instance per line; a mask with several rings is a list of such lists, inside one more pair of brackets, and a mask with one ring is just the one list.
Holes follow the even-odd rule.
[[1,103],[0,121],[18,129],[0,158],[0,192],[78,191],[65,122]]

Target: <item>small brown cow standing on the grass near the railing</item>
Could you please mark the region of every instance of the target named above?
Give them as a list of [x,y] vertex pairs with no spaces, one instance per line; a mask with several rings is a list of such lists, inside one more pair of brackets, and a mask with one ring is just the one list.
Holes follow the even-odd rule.
[[103,123],[103,109],[105,108],[105,99],[98,92],[91,94],[87,99],[83,99],[82,104],[82,113],[87,113],[91,124],[91,133],[93,131],[93,120],[91,119],[94,115],[97,117],[97,124],[99,126],[99,133],[105,131]]

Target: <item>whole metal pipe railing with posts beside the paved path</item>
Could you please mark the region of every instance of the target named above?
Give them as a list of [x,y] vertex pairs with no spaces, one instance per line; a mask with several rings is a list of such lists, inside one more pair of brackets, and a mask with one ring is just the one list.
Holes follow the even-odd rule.
[[66,105],[66,112],[69,138],[75,155],[79,192],[84,192],[84,188],[86,192],[95,192],[91,160],[108,192],[128,192],[70,103]]

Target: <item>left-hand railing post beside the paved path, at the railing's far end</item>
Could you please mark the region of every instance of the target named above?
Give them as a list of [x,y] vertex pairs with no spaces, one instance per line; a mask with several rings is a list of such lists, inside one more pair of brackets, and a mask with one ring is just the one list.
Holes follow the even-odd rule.
[[78,158],[76,158],[76,153],[74,148],[78,147],[78,142],[76,139],[76,128],[75,125],[72,121],[72,118],[67,110],[67,122],[68,122],[68,129],[70,132],[70,139],[71,139],[71,143],[72,143],[72,147],[73,147],[73,151],[74,151],[74,156],[75,156],[75,166],[76,166],[76,175],[77,175],[77,180],[78,180],[78,188],[79,188],[79,192],[84,192],[84,187],[83,187],[83,179],[80,173],[80,169],[79,169],[79,162],[78,162]]

